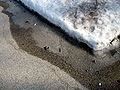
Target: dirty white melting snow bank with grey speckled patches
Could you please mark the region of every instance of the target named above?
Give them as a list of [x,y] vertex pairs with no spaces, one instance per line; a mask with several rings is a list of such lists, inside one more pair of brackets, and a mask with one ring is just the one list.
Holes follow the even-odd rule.
[[117,47],[120,0],[18,0],[95,51]]

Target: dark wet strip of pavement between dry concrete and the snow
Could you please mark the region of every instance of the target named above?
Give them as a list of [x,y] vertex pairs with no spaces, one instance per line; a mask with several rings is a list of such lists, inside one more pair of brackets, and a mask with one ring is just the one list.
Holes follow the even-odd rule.
[[15,0],[0,0],[0,6],[9,16],[12,37],[21,50],[60,68],[91,90],[119,90],[120,48],[95,56],[87,45]]

